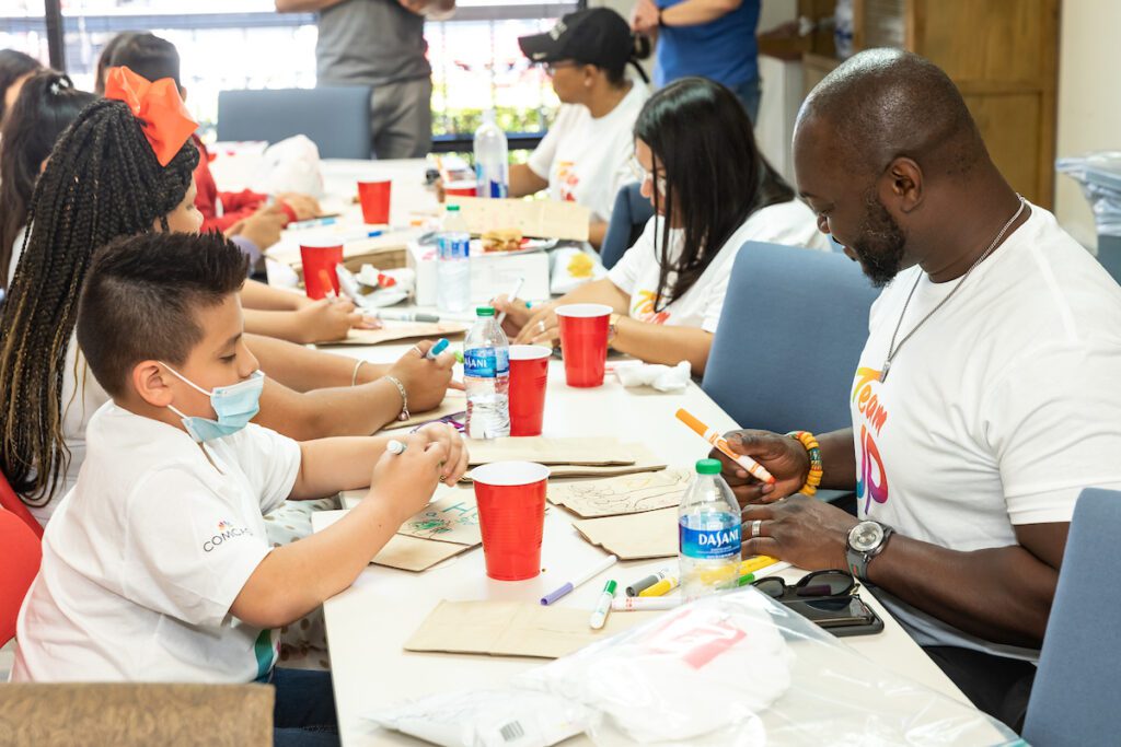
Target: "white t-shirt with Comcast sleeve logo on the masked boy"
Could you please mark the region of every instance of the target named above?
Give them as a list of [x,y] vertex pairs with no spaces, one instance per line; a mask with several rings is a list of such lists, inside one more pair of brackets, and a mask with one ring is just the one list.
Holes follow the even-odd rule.
[[206,443],[110,402],[90,420],[74,491],[43,538],[12,681],[250,682],[275,631],[230,606],[271,551],[299,445],[266,428]]

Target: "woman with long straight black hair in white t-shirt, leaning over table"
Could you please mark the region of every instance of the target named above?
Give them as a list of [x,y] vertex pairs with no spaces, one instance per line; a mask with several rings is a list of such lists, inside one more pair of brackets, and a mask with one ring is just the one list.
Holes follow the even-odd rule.
[[756,148],[731,91],[684,78],[654,94],[634,124],[634,167],[654,205],[638,242],[606,278],[527,308],[495,299],[517,343],[557,339],[554,308],[605,304],[609,345],[648,363],[704,373],[732,262],[748,241],[828,250],[814,213]]

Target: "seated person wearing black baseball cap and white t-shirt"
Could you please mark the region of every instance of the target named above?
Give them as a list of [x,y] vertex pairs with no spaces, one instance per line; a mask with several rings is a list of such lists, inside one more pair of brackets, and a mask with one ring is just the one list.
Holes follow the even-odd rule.
[[[545,65],[560,110],[528,164],[510,167],[510,197],[543,189],[557,200],[592,211],[589,240],[603,241],[615,194],[634,180],[628,164],[632,130],[650,92],[638,60],[650,53],[622,16],[606,8],[568,13],[546,34],[518,39],[521,50]],[[633,65],[642,81],[626,75]]]

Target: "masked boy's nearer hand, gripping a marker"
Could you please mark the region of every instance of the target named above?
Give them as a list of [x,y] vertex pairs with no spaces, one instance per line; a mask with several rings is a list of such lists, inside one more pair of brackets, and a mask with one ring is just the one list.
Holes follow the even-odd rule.
[[420,433],[397,440],[405,445],[405,450],[400,454],[387,450],[381,455],[373,466],[370,495],[389,502],[397,510],[400,523],[428,505],[447,461],[447,449]]

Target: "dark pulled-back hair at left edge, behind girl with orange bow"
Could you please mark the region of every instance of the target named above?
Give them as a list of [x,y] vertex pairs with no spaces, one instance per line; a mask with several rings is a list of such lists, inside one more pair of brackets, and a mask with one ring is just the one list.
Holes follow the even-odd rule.
[[75,88],[65,74],[41,71],[27,78],[0,128],[0,288],[4,290],[12,244],[27,225],[43,161],[78,112],[96,99]]

